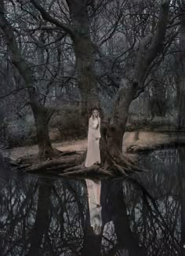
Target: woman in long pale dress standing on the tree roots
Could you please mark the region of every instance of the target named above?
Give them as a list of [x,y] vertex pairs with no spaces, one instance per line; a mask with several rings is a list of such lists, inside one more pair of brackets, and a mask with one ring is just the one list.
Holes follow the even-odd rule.
[[94,109],[89,118],[88,146],[85,159],[85,167],[100,163],[100,117],[97,109]]

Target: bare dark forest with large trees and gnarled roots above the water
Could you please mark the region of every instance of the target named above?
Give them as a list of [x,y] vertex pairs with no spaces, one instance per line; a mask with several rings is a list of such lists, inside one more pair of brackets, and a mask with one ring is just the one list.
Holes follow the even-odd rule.
[[[185,143],[184,0],[2,0],[0,36],[1,144],[38,144],[18,168],[127,176],[143,169],[123,153],[126,132]],[[101,164],[85,168],[86,151],[59,150],[53,137],[86,138],[94,108]]]

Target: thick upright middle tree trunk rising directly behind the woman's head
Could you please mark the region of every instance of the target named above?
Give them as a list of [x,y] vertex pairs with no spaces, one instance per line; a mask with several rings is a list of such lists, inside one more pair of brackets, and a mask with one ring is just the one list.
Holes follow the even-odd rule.
[[90,38],[89,18],[86,1],[67,0],[74,27],[74,53],[78,74],[78,87],[82,97],[82,115],[88,109],[100,108],[94,70],[94,49]]

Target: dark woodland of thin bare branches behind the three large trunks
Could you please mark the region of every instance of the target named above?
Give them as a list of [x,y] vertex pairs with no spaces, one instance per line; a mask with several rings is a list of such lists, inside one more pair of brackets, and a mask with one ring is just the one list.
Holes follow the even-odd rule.
[[[74,1],[75,2],[75,1]],[[140,42],[156,31],[160,1],[82,0],[94,47],[93,65],[103,112],[110,114],[122,83],[132,79]],[[2,4],[1,4],[2,5]],[[31,84],[13,64],[5,34],[0,31],[0,138],[9,147],[37,143],[31,111],[34,88],[47,117],[52,141],[86,137],[70,1],[5,0],[3,10],[13,31]],[[45,14],[46,13],[46,14]],[[52,18],[51,18],[52,17]],[[75,27],[76,26],[76,27]],[[148,70],[145,85],[129,108],[127,130],[179,130],[184,127],[185,7],[170,2],[169,22],[161,53]],[[150,41],[144,46],[149,48]],[[83,47],[83,45],[82,45]],[[143,53],[145,54],[145,53]],[[43,121],[44,122],[44,121]]]

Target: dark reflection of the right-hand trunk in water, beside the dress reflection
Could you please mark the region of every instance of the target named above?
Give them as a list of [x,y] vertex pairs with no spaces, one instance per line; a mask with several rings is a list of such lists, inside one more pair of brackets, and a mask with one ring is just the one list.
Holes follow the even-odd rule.
[[[118,239],[119,248],[127,249],[130,256],[145,256],[146,251],[139,246],[139,240],[132,232],[129,225],[129,218],[127,215],[126,205],[122,194],[122,181],[104,181],[103,186],[107,187],[104,191],[107,195],[104,196],[105,202],[103,206],[104,220],[113,221],[114,229]],[[108,213],[108,216],[106,217]]]

